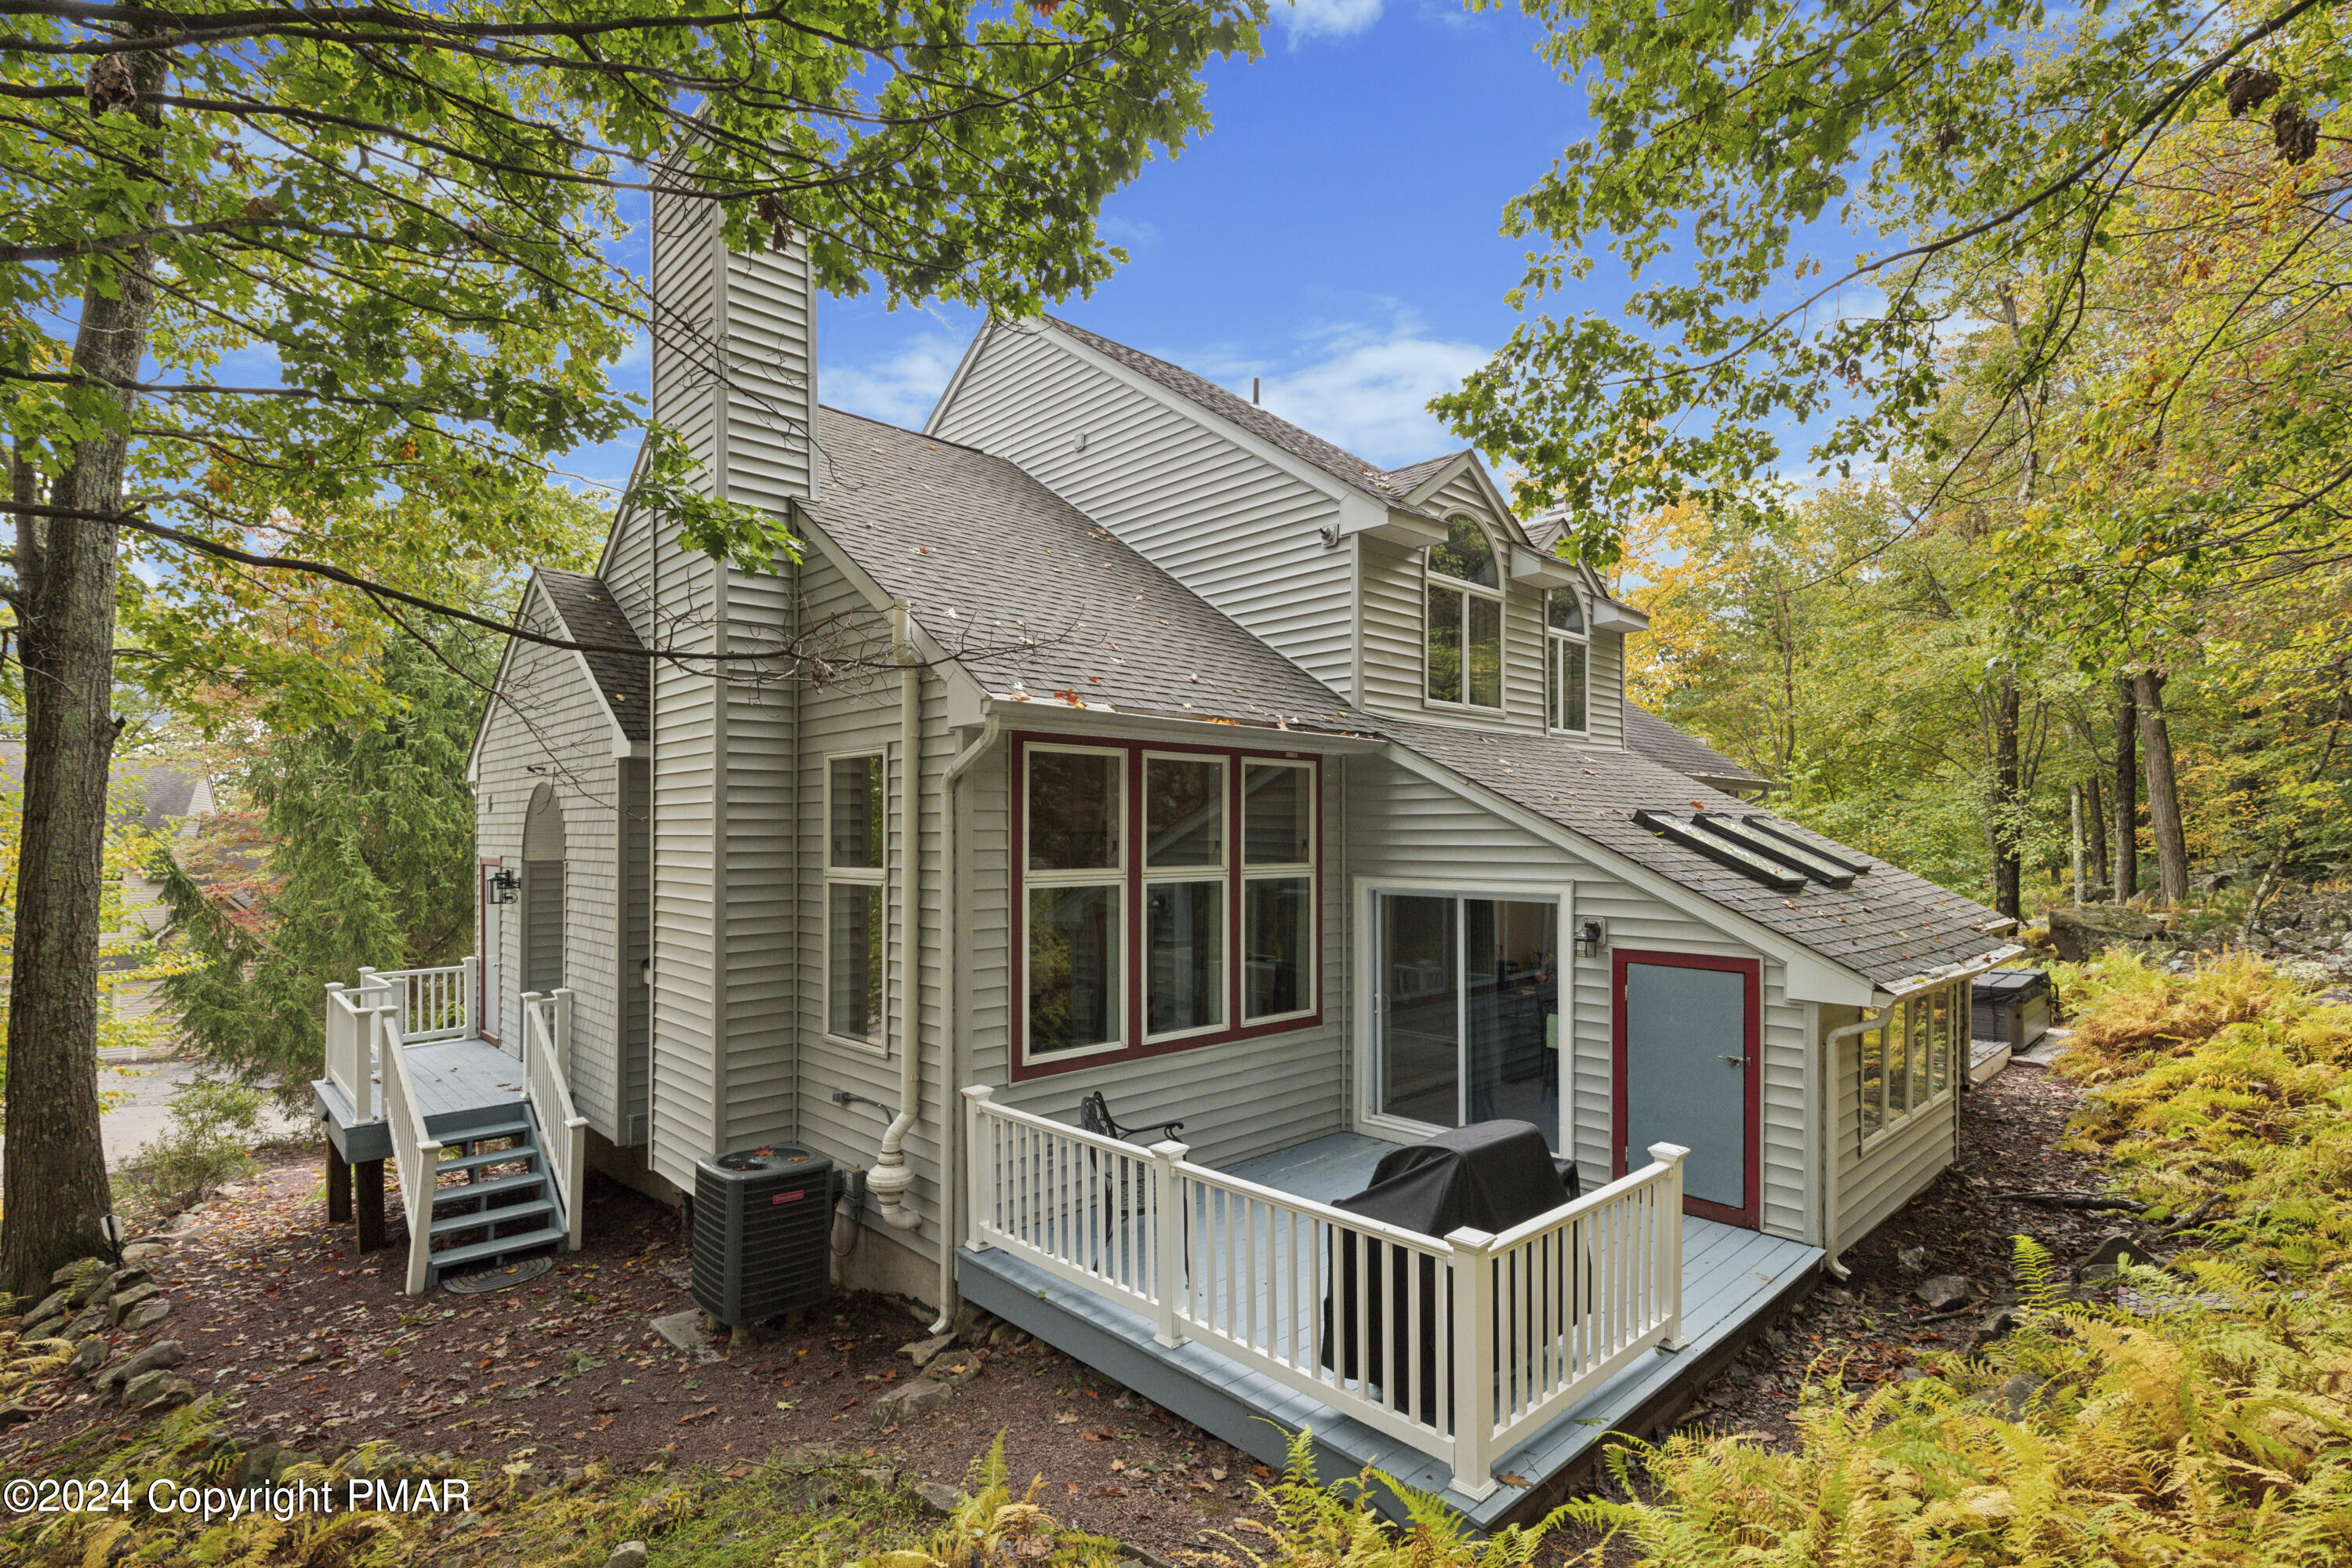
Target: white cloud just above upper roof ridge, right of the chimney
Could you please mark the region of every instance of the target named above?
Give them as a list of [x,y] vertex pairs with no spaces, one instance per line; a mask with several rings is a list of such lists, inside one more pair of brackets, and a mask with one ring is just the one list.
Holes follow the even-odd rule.
[[[1341,322],[1305,334],[1284,362],[1256,369],[1258,397],[1294,425],[1397,468],[1461,447],[1428,402],[1458,388],[1486,357],[1477,343],[1432,336],[1399,310],[1385,324]],[[1249,395],[1247,374],[1221,378]]]

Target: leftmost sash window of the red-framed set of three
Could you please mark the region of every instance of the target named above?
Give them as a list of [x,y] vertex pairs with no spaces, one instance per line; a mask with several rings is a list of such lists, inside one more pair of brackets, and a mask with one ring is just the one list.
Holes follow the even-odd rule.
[[1127,752],[1023,750],[1028,1058],[1127,1046]]

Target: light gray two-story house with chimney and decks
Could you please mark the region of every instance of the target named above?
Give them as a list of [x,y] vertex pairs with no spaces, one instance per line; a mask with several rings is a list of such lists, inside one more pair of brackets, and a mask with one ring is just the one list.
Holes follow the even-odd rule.
[[[480,954],[329,1006],[339,1157],[419,1161],[412,1288],[576,1239],[586,1166],[684,1201],[802,1143],[863,1171],[847,1284],[1491,1523],[1950,1161],[2002,922],[1644,755],[1642,616],[1470,451],[1383,470],[1061,320],[903,430],[818,402],[797,252],[661,202],[654,287],[656,416],[802,552],[623,512],[532,578],[517,625],[597,651],[508,649]],[[1585,1197],[1331,1206],[1489,1119]],[[423,1164],[513,1150],[480,1206]]]

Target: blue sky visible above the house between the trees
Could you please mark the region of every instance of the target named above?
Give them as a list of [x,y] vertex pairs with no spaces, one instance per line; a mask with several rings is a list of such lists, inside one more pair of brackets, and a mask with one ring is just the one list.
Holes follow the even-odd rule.
[[[1503,202],[1583,125],[1536,38],[1439,0],[1277,0],[1263,59],[1209,71],[1214,129],[1105,207],[1129,266],[1058,313],[1242,395],[1261,376],[1277,414],[1378,463],[1458,447],[1423,404],[1510,334]],[[818,393],[922,423],[974,327],[826,301]],[[628,454],[572,468],[621,482]]]

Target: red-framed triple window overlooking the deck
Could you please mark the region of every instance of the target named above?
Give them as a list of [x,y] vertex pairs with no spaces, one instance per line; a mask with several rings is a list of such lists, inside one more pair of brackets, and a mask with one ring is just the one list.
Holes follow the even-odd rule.
[[1322,1023],[1322,759],[1011,741],[1016,1079]]

